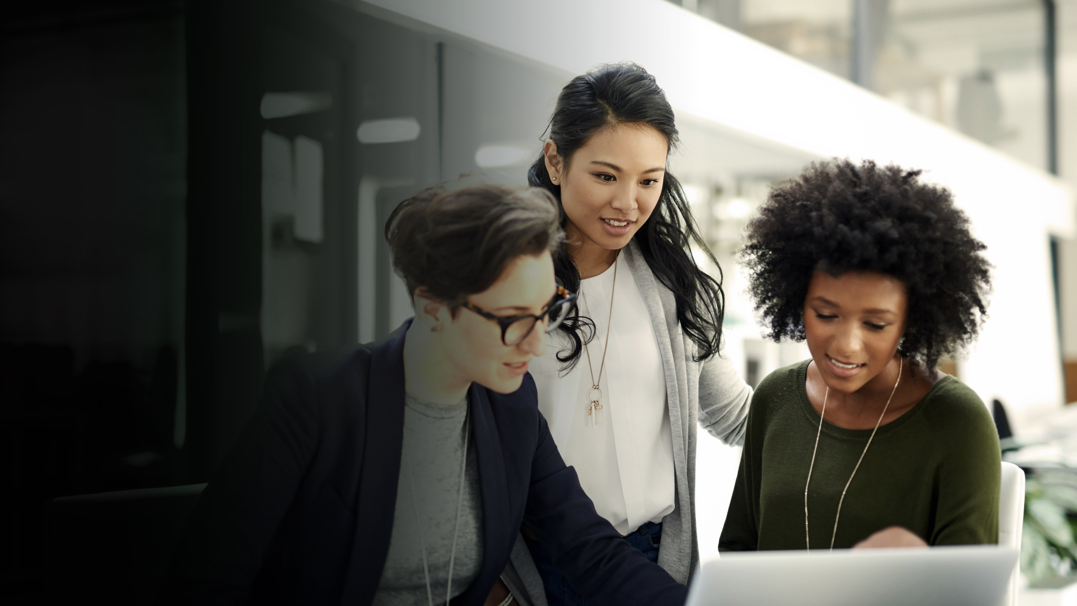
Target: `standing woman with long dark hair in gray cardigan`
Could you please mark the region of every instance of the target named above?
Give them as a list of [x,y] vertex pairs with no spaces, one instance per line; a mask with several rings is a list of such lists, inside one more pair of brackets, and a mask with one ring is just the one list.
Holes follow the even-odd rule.
[[[561,90],[548,135],[528,181],[558,201],[557,281],[581,295],[532,365],[538,407],[599,515],[686,583],[696,423],[740,443],[752,390],[718,355],[722,284],[691,250],[714,256],[667,170],[673,110],[642,67],[606,65]],[[558,572],[563,554],[529,534],[517,572],[530,552],[551,605],[584,604]]]

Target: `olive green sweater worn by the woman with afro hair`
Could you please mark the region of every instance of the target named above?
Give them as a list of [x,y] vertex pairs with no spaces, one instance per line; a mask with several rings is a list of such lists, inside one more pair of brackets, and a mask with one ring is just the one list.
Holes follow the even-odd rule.
[[[805,482],[819,413],[805,361],[771,372],[752,398],[721,551],[805,549]],[[808,493],[811,548],[830,546],[838,499],[871,429],[823,422]],[[983,401],[953,377],[879,427],[849,487],[835,548],[886,526],[931,545],[998,542],[998,437]]]

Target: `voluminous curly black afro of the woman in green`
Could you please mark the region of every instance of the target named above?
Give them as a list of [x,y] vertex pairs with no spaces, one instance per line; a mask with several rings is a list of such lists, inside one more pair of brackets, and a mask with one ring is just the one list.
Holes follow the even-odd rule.
[[924,368],[976,338],[991,292],[987,246],[950,191],[920,173],[834,159],[771,191],[740,251],[770,338],[806,338],[803,304],[816,270],[900,280],[909,304],[898,351]]

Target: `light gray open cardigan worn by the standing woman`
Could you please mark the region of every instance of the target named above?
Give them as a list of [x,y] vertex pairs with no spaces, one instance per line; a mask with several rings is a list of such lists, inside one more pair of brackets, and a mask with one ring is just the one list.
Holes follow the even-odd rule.
[[[673,434],[676,494],[673,511],[662,519],[658,565],[677,582],[687,584],[699,561],[694,420],[722,441],[740,446],[744,440],[752,387],[744,383],[728,358],[715,355],[703,362],[693,360],[696,346],[681,332],[673,293],[655,278],[634,239],[623,252],[655,326],[666,371]],[[503,578],[522,606],[546,606],[542,579],[522,538],[516,541]]]

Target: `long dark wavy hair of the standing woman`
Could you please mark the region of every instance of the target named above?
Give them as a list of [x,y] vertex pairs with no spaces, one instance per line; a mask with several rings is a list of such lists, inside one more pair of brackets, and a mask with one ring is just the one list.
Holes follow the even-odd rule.
[[[670,150],[679,141],[673,109],[666,94],[655,76],[631,62],[600,66],[572,79],[557,98],[547,132],[568,167],[576,150],[603,128],[616,124],[651,126],[666,137]],[[563,228],[568,216],[560,206],[561,186],[550,181],[543,155],[528,170],[528,183],[554,194],[561,208]],[[658,205],[634,239],[655,277],[673,293],[681,329],[697,346],[695,358],[717,354],[725,308],[722,269],[718,268],[715,280],[696,265],[689,253],[689,244],[695,243],[718,267],[699,235],[681,183],[669,171],[662,179]],[[579,290],[579,270],[563,248],[554,255],[554,270],[558,283],[573,292]],[[559,352],[557,358],[564,369],[572,368],[579,360],[584,339],[589,340],[593,335],[593,323],[576,312],[559,329],[569,336],[571,346]]]

